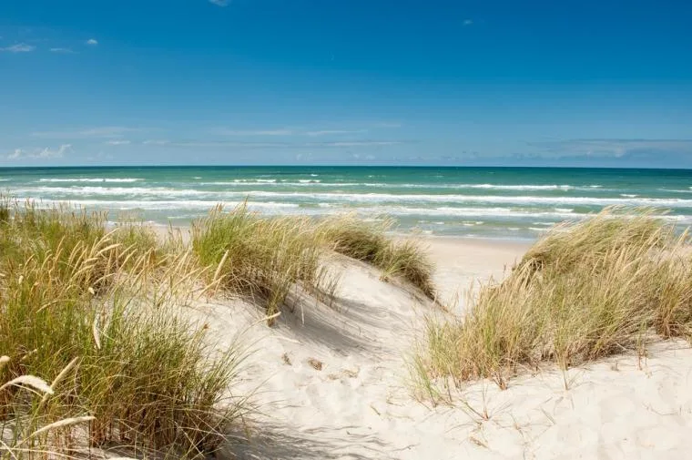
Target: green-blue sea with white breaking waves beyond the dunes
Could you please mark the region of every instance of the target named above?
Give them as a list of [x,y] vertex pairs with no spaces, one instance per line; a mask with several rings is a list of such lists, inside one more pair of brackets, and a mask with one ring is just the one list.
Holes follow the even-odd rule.
[[0,193],[108,219],[189,225],[217,204],[267,216],[352,212],[397,232],[535,240],[605,207],[692,224],[692,170],[433,167],[0,168]]

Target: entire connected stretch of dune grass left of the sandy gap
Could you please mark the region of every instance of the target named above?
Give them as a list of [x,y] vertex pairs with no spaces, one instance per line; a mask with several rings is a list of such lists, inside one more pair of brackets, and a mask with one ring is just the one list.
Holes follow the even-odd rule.
[[182,305],[241,296],[271,322],[297,302],[291,292],[335,289],[321,264],[331,250],[432,295],[432,267],[414,243],[350,219],[218,208],[186,241],[137,224],[110,229],[103,214],[3,201],[0,458],[112,445],[172,458],[216,450],[248,410],[230,397],[243,354],[219,353]]

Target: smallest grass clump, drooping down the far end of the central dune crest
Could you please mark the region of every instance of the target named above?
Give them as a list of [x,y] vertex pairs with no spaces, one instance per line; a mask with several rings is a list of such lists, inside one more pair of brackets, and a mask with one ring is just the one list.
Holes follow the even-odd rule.
[[386,234],[392,220],[368,222],[347,215],[321,223],[321,236],[332,250],[380,268],[385,276],[401,277],[434,298],[432,262],[412,240],[393,240]]

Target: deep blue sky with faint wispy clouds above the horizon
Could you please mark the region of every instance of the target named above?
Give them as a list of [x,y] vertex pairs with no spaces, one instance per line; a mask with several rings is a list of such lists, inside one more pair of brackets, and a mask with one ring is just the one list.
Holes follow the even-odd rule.
[[5,0],[0,166],[692,168],[684,0]]

